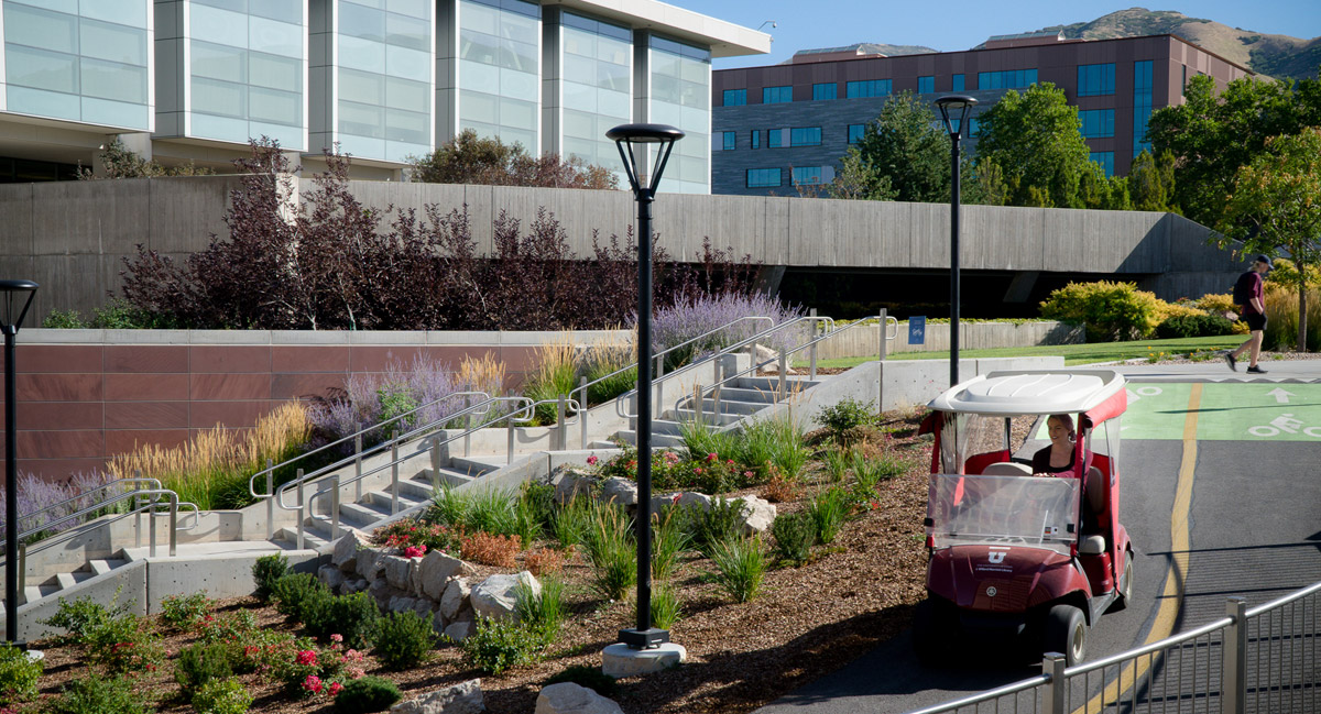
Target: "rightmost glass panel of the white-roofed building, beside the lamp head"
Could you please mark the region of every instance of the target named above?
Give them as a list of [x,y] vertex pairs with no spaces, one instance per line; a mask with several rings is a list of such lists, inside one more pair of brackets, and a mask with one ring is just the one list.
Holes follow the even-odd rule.
[[711,51],[651,36],[649,62],[649,120],[678,127],[687,135],[674,145],[660,189],[711,193]]

